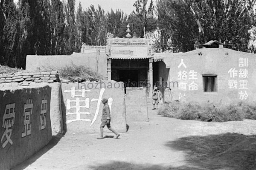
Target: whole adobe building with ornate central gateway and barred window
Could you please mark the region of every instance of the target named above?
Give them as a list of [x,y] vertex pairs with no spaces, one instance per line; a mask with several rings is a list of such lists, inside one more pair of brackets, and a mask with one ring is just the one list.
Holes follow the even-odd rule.
[[256,100],[256,55],[222,45],[186,53],[154,53],[148,36],[114,38],[108,34],[106,46],[82,44],[81,53],[71,56],[27,56],[26,69],[61,67],[62,62],[87,65],[105,79],[124,82],[129,91],[129,87],[144,88],[148,97],[156,85],[163,98],[169,87],[173,100],[179,101]]

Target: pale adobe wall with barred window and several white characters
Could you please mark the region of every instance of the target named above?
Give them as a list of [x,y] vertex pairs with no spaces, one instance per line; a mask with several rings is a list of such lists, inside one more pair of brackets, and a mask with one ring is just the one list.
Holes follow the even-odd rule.
[[[164,58],[174,100],[222,102],[256,100],[256,55],[227,48],[204,48]],[[216,75],[216,92],[204,92],[203,75]]]

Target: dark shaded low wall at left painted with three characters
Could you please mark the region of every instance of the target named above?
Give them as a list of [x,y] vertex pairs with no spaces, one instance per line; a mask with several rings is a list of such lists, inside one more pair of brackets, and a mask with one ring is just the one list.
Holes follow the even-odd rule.
[[0,170],[8,170],[52,139],[51,88],[0,85]]

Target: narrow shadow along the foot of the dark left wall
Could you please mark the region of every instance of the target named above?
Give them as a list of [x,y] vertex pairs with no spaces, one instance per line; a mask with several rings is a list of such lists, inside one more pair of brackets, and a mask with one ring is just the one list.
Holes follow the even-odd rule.
[[35,162],[38,158],[40,158],[42,155],[47,153],[50,149],[52,149],[52,147],[54,147],[56,144],[58,144],[58,142],[61,140],[62,137],[63,137],[62,134],[57,134],[55,136],[52,136],[52,140],[45,147],[43,147],[41,150],[39,150],[38,153],[35,153],[33,156],[31,156],[26,161],[23,161],[21,164],[18,164],[12,170],[23,170],[23,169],[25,169],[30,164]]

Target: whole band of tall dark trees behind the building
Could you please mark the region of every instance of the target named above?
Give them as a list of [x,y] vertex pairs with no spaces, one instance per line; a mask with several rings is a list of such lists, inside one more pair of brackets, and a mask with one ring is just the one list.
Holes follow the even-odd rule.
[[0,0],[0,64],[25,68],[26,55],[69,55],[82,42],[106,45],[107,33],[125,37],[127,24],[133,37],[158,32],[157,52],[190,51],[209,40],[256,51],[256,45],[248,48],[256,30],[255,0],[157,0],[157,6],[134,0],[133,6],[127,15],[81,3],[76,9],[75,0]]

